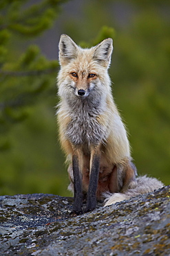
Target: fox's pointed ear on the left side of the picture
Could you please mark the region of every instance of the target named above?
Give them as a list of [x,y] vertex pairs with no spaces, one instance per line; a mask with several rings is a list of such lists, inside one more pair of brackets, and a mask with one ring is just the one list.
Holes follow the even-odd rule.
[[61,66],[66,65],[77,55],[78,46],[68,35],[61,35],[59,42],[59,61]]

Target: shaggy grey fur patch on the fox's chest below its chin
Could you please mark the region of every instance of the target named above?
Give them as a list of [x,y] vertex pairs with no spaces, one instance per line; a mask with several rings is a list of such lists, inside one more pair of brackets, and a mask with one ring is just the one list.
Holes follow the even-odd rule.
[[101,99],[92,100],[75,99],[70,104],[70,122],[65,129],[65,136],[73,145],[98,145],[104,142],[107,129],[98,122],[100,113],[103,112]]

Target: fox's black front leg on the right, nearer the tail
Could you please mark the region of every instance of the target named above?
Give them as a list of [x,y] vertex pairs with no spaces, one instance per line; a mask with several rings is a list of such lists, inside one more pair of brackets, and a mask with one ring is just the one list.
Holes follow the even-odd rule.
[[98,154],[95,154],[92,158],[92,167],[89,178],[89,189],[87,192],[87,212],[94,210],[96,208],[96,190],[98,186],[99,166],[100,156]]

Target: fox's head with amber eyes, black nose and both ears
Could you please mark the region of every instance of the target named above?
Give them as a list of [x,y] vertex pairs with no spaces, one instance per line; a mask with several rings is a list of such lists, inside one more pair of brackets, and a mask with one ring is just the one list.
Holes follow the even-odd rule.
[[67,35],[59,42],[59,95],[63,98],[80,98],[101,94],[108,89],[107,69],[111,62],[113,40],[107,38],[92,48],[81,48]]

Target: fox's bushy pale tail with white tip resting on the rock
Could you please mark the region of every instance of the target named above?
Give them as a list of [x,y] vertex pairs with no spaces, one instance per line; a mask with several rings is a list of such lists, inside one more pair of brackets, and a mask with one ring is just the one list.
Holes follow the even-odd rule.
[[139,176],[136,181],[137,185],[135,188],[131,188],[123,193],[105,193],[105,206],[130,199],[132,196],[137,196],[138,194],[153,192],[164,186],[161,181],[158,181],[155,178],[149,178],[146,175]]

